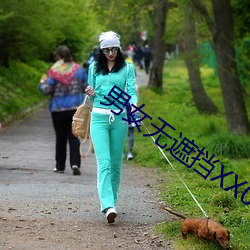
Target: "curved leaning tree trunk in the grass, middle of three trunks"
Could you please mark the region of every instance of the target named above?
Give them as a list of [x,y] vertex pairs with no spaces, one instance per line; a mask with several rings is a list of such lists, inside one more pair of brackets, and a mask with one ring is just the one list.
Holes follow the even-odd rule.
[[[193,8],[187,6],[185,18],[185,55],[189,82],[195,105],[200,113],[217,113],[218,108],[207,95],[200,75],[200,57],[196,48],[195,18],[191,16]],[[189,11],[190,10],[190,11]]]

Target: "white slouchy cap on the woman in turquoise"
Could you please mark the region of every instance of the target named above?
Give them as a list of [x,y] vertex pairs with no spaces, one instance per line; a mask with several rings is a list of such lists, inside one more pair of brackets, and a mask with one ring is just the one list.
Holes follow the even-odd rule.
[[100,49],[109,47],[121,48],[120,36],[113,31],[103,32],[99,36]]

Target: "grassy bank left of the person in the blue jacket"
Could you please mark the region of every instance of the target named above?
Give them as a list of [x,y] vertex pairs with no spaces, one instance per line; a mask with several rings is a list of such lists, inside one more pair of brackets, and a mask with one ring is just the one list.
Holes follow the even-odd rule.
[[46,97],[38,90],[42,74],[48,65],[33,62],[30,65],[12,62],[9,69],[0,67],[0,122],[6,124],[9,117],[20,118],[22,111],[32,110]]

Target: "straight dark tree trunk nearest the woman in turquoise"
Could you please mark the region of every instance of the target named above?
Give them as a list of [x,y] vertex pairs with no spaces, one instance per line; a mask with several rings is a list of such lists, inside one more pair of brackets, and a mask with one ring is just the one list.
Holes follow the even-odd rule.
[[148,88],[157,87],[162,89],[163,66],[166,53],[164,34],[168,12],[168,1],[157,0],[156,4],[153,62],[149,74]]

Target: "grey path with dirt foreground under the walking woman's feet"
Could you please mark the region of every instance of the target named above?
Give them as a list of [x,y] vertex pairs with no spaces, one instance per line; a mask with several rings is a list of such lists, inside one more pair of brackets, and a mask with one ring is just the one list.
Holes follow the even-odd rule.
[[123,167],[118,218],[99,211],[96,161],[82,175],[55,174],[54,132],[47,108],[0,131],[0,249],[173,249],[153,233],[168,219],[152,188],[152,169]]

